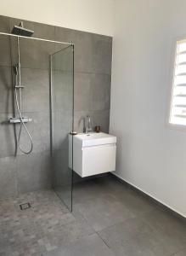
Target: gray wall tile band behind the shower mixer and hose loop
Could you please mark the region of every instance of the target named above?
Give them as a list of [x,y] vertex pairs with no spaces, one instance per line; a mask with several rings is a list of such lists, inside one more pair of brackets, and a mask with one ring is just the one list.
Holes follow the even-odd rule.
[[[27,129],[31,134],[34,147],[33,153],[42,152],[50,149],[50,123],[49,113],[36,112],[36,113],[23,113],[24,117],[31,118],[32,121],[27,123]],[[0,158],[13,156],[15,154],[15,136],[14,125],[8,123],[8,119],[13,117],[13,114],[0,113]],[[20,125],[16,125],[17,135],[20,131]],[[21,148],[25,151],[30,148],[30,140],[22,128],[20,139]],[[22,154],[18,149],[18,154]]]

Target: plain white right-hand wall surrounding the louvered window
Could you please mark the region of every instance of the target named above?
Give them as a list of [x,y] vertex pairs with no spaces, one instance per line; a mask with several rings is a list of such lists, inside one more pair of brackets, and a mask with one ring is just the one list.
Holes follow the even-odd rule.
[[116,174],[186,216],[186,132],[166,124],[185,0],[117,0],[110,132]]

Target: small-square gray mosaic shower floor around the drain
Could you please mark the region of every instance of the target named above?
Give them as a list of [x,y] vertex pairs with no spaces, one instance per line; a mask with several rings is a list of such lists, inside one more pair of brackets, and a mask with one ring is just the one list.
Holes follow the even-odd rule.
[[[31,208],[21,211],[20,203]],[[51,190],[21,194],[0,201],[0,255],[39,255],[93,234]]]

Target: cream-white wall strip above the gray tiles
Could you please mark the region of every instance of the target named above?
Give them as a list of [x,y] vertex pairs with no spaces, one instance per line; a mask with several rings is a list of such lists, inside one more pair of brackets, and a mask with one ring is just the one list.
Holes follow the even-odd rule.
[[114,0],[0,0],[0,15],[113,34]]

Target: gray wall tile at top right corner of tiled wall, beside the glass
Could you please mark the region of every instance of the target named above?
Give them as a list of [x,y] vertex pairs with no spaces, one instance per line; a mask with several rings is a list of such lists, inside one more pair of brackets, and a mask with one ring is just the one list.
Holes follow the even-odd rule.
[[112,38],[56,26],[55,39],[75,44],[75,72],[111,73]]

